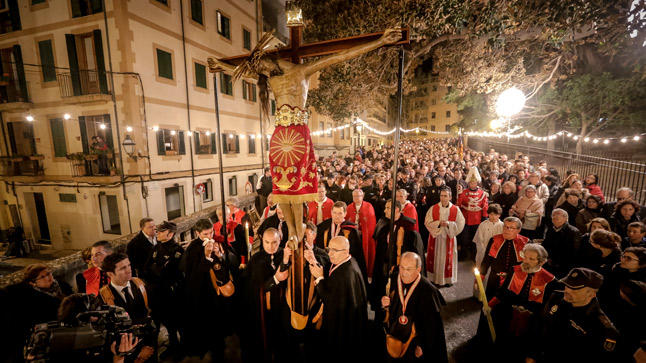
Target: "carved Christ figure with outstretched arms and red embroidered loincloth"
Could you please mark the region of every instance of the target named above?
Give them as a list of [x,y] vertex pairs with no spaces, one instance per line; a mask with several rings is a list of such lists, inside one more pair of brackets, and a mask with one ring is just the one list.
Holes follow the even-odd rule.
[[[331,65],[358,57],[379,47],[394,44],[402,37],[400,29],[388,29],[377,40],[366,42],[303,64],[294,64],[276,54],[266,54],[271,35],[265,35],[234,71],[234,78],[258,77],[260,101],[267,110],[268,88],[276,104],[275,130],[270,142],[269,162],[273,179],[273,198],[285,215],[290,240],[303,238],[303,203],[316,200],[318,173],[307,127],[305,108],[309,79]],[[212,72],[231,69],[224,62],[209,58]],[[269,87],[267,87],[269,86]],[[266,112],[265,112],[266,113]]]

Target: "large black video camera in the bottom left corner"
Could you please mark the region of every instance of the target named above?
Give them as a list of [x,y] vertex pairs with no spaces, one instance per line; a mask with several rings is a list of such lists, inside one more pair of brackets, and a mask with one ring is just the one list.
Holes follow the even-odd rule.
[[[25,347],[25,360],[47,362],[66,360],[65,357],[110,357],[110,346],[121,339],[121,334],[132,333],[142,338],[154,332],[150,319],[133,324],[121,307],[103,305],[93,311],[77,315],[78,324],[59,321],[38,324]],[[67,359],[69,361],[69,359]]]

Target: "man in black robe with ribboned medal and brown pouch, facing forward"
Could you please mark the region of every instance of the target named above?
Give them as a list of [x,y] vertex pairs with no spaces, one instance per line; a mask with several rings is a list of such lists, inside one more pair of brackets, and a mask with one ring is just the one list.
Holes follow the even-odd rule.
[[440,315],[444,298],[421,270],[419,255],[405,252],[397,282],[381,298],[381,306],[388,309],[386,348],[398,361],[448,362]]

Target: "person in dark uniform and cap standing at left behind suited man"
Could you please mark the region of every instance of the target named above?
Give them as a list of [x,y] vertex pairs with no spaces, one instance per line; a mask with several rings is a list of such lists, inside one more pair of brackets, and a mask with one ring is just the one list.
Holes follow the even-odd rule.
[[183,276],[179,270],[184,249],[175,241],[177,225],[162,222],[157,226],[157,244],[143,269],[142,278],[150,292],[151,315],[157,329],[163,324],[168,332],[168,349],[164,356],[179,358],[180,339],[178,338],[181,319],[177,311],[182,310]]

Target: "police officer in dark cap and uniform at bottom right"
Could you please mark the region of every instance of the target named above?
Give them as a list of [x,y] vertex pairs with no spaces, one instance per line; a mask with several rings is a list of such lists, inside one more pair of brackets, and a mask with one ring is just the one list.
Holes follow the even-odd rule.
[[560,280],[543,311],[542,327],[527,362],[613,362],[619,333],[596,298],[603,276],[577,267]]

